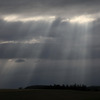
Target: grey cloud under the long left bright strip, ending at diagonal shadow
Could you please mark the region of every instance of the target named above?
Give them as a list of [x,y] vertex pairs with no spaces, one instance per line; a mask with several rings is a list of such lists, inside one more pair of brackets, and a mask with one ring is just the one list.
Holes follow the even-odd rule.
[[0,40],[30,40],[46,36],[49,23],[39,22],[5,22],[0,21]]

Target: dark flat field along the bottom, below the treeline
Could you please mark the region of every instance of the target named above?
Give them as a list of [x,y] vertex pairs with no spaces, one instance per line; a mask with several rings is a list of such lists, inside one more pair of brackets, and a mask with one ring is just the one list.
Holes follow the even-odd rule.
[[73,90],[0,90],[0,100],[100,100],[100,92]]

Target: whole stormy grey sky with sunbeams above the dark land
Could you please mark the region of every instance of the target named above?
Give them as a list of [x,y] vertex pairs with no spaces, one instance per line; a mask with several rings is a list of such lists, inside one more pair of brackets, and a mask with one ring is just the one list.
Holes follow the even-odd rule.
[[0,0],[0,88],[100,85],[99,0]]

